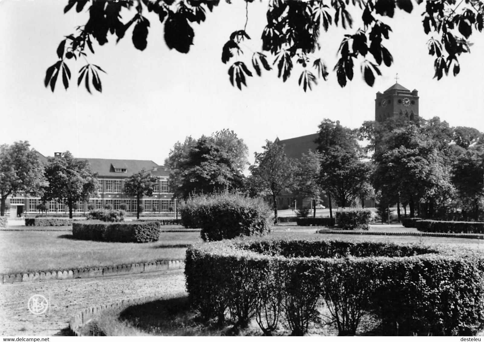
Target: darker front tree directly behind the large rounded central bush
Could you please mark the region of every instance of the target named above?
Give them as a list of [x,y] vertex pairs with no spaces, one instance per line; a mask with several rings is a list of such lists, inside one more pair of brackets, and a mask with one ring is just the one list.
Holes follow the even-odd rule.
[[179,160],[170,174],[175,197],[187,199],[193,193],[216,193],[242,188],[239,160],[206,137],[201,137]]

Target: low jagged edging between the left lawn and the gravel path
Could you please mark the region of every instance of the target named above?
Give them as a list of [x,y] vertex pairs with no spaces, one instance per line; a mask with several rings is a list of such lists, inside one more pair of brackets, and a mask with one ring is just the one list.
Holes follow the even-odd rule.
[[155,260],[146,263],[130,265],[114,265],[109,267],[74,268],[50,271],[37,271],[16,274],[0,274],[0,284],[33,282],[37,280],[64,280],[76,278],[96,278],[111,275],[126,275],[132,273],[155,272],[183,268],[184,260]]

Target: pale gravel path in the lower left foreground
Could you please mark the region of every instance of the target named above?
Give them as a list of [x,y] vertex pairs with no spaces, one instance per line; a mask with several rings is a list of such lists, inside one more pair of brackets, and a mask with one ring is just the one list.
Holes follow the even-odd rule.
[[[92,306],[151,295],[165,297],[185,290],[183,269],[91,279],[70,279],[0,285],[2,336],[52,336],[61,334],[77,312]],[[32,295],[49,302],[45,314],[27,308]]]

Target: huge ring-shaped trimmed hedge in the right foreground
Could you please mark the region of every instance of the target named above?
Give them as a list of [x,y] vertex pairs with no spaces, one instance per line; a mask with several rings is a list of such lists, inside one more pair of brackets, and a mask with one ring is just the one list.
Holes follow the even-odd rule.
[[[203,318],[255,317],[271,334],[320,321],[324,301],[340,335],[376,313],[386,334],[471,335],[484,327],[484,260],[477,251],[411,244],[245,238],[190,247],[186,287]],[[274,323],[275,322],[275,323]]]

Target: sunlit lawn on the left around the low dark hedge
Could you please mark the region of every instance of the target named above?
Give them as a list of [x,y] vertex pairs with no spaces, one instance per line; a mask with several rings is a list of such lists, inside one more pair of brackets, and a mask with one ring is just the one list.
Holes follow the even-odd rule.
[[65,231],[0,231],[0,241],[0,273],[11,274],[181,260],[201,238],[199,232],[170,232],[157,242],[119,243],[75,240]]

